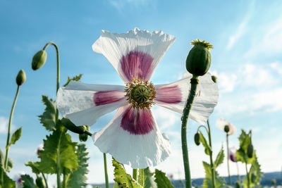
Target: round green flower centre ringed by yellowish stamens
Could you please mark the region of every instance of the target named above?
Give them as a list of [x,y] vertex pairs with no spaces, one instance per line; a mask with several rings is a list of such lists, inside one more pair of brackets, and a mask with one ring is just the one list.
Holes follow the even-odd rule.
[[125,92],[128,103],[137,109],[151,108],[152,104],[154,104],[153,99],[156,97],[152,82],[135,78],[132,78],[125,85]]

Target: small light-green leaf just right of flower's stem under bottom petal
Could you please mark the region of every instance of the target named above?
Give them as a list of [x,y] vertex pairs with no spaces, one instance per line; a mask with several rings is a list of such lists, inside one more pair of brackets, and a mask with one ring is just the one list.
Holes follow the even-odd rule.
[[144,188],[157,187],[156,182],[154,182],[154,173],[151,173],[149,167],[138,170],[138,183]]

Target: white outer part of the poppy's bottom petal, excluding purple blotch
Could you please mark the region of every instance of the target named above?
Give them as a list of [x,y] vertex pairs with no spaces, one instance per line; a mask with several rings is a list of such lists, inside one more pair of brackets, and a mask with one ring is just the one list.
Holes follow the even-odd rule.
[[119,163],[132,168],[147,168],[164,161],[169,154],[170,142],[163,137],[154,120],[154,130],[147,134],[130,134],[121,127],[123,112],[118,109],[115,117],[103,130],[92,135],[94,144],[103,153],[110,153]]

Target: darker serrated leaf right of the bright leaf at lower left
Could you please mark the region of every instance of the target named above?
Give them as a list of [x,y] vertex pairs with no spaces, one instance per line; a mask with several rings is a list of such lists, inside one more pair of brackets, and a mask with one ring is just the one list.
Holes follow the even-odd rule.
[[68,188],[76,188],[76,187],[85,187],[87,184],[85,183],[87,180],[87,177],[85,176],[88,173],[87,170],[87,152],[85,144],[78,144],[77,149],[77,155],[78,155],[78,169],[73,170],[68,175],[68,182],[67,187]]

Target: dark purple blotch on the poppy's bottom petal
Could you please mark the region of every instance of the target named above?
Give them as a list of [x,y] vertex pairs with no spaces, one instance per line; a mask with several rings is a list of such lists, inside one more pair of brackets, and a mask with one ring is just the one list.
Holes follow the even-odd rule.
[[154,118],[149,109],[125,108],[121,119],[121,127],[130,134],[148,134],[154,129]]

